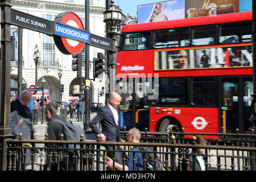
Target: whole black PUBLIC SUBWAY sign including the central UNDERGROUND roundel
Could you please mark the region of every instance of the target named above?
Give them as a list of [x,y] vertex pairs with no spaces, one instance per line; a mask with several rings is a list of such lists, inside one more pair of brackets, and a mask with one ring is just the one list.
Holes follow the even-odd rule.
[[11,9],[11,24],[53,36],[57,48],[66,55],[79,53],[85,43],[115,51],[113,40],[86,32],[79,16],[70,11],[60,13],[50,21]]

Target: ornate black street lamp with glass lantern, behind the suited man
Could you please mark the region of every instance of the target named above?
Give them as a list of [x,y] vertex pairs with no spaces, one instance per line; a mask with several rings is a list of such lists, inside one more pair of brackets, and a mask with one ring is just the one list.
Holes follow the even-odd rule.
[[[122,12],[117,10],[114,5],[114,0],[111,1],[109,10],[104,11],[104,22],[109,25],[110,31],[108,36],[111,40],[114,40],[114,50],[115,41],[117,40],[118,32],[115,31],[117,25],[122,22]],[[115,91],[115,52],[109,51],[109,56],[107,59],[107,65],[109,68],[109,93]]]

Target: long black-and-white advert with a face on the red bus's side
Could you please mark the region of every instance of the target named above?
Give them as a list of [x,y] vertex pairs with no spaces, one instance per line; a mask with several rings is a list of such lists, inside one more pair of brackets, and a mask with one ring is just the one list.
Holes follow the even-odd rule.
[[155,70],[253,65],[251,46],[155,51],[154,62]]

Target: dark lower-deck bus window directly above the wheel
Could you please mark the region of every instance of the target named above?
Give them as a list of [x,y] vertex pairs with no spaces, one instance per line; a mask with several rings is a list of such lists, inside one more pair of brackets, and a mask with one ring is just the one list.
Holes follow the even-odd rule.
[[188,105],[188,78],[159,78],[159,97],[154,105]]

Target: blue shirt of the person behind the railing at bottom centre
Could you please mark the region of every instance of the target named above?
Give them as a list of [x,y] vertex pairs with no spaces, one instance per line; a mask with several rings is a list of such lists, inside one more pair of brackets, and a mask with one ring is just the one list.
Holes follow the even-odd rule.
[[[141,151],[138,147],[134,147],[131,151]],[[130,152],[129,158],[126,162],[126,166],[129,171],[133,171],[133,153],[135,153],[135,171],[143,171],[143,157],[141,152]]]

